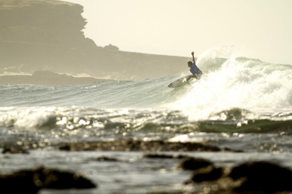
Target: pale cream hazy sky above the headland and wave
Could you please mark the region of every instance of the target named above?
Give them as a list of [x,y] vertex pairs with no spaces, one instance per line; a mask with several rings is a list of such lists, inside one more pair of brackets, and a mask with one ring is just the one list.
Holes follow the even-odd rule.
[[292,0],[66,0],[84,6],[84,34],[122,51],[195,57],[212,47],[292,64]]

